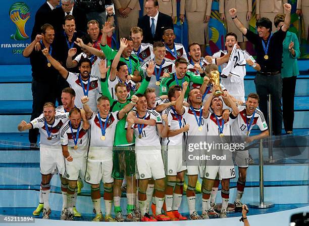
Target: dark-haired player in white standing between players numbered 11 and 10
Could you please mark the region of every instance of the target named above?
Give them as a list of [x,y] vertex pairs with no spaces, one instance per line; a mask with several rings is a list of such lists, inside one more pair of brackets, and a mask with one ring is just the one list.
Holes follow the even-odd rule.
[[167,115],[169,128],[167,138],[162,139],[162,158],[165,165],[167,185],[165,187],[166,215],[171,220],[186,220],[178,212],[184,185],[184,173],[187,169],[182,164],[183,133],[189,130],[189,124],[184,124],[183,116],[176,112],[176,100],[181,95],[181,86],[173,85],[169,89],[169,103],[174,103],[162,113]]

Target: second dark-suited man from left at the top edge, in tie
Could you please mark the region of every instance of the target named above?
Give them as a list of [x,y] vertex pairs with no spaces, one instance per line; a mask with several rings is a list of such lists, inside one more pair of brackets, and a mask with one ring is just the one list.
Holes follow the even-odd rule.
[[85,11],[74,6],[74,0],[61,0],[61,7],[52,12],[53,26],[55,27],[56,33],[62,31],[63,19],[69,14],[75,18],[76,30],[86,32],[87,19]]

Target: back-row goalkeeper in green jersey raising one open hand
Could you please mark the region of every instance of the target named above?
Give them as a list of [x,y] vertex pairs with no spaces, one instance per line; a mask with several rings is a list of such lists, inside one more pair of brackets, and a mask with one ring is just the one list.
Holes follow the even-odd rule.
[[[107,60],[113,60],[117,54],[117,51],[112,50],[107,45],[107,34],[111,32],[114,27],[110,27],[110,23],[106,22],[102,29],[102,38],[101,38],[101,50],[104,52]],[[133,39],[131,37],[126,37],[128,46],[125,50],[122,51],[120,61],[125,62],[128,66],[129,75],[134,82],[141,81],[141,76],[139,75],[140,63],[136,55],[132,55],[133,51]]]

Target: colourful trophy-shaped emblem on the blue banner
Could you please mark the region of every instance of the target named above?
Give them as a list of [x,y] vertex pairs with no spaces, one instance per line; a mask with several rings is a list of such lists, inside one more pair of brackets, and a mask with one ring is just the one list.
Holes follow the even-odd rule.
[[29,36],[26,34],[25,24],[30,18],[29,7],[22,2],[14,3],[9,10],[9,16],[16,25],[16,32],[11,35],[11,38],[15,40],[28,39]]

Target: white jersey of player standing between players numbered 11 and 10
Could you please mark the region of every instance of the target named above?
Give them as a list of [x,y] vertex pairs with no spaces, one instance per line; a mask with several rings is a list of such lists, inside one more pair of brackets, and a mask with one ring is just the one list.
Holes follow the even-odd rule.
[[[170,130],[180,129],[184,125],[184,120],[182,115],[178,115],[174,107],[169,107],[165,109],[162,114],[168,116]],[[182,145],[183,133],[179,133],[174,137],[167,137],[162,139],[162,145]]]

